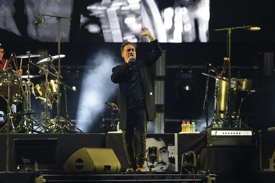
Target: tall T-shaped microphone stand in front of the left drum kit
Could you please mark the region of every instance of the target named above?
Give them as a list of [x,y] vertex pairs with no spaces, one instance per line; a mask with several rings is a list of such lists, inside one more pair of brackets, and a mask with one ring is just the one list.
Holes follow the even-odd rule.
[[56,130],[60,130],[60,19],[63,18],[63,19],[72,20],[72,18],[39,14],[39,16],[42,16],[42,15],[48,16],[48,17],[55,17],[58,24],[58,74],[57,74],[57,81],[58,81],[57,91],[58,92],[57,92],[57,129]]

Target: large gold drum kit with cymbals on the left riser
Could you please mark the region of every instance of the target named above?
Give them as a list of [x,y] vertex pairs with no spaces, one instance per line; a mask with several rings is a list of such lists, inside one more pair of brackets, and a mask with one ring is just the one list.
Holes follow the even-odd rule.
[[[0,72],[0,133],[6,133],[7,131],[9,133],[77,132],[70,128],[82,132],[82,130],[71,123],[70,118],[68,117],[67,106],[65,107],[66,117],[63,118],[62,116],[59,116],[59,120],[64,120],[64,125],[57,123],[56,117],[53,119],[48,117],[48,110],[52,109],[53,103],[58,100],[55,99],[58,94],[58,79],[48,80],[48,75],[58,78],[58,72],[54,68],[53,61],[57,60],[59,55],[49,55],[48,58],[42,59],[36,64],[30,59],[32,57],[41,56],[42,55],[31,54],[30,51],[28,51],[26,55],[14,56],[15,59],[21,58],[19,69],[21,69],[22,66],[22,59],[28,58],[27,75],[19,76],[19,74],[12,70],[11,67]],[[65,57],[65,55],[60,55],[60,58],[63,57]],[[44,64],[44,66],[40,67],[38,64]],[[15,60],[14,65],[15,69],[18,70],[17,61]],[[30,65],[38,67],[40,69],[38,73],[44,71],[46,76],[45,82],[36,85],[33,83],[32,79],[41,77],[41,75],[31,75]],[[55,74],[50,72],[47,68],[51,68]],[[60,76],[60,78],[62,77]],[[63,82],[60,82],[60,84],[63,86],[67,105],[66,89],[74,90]],[[36,99],[40,99],[44,102],[45,111],[43,119],[39,119],[36,115],[38,113],[35,113],[31,108],[31,94],[33,94]],[[22,112],[16,113],[16,105],[19,104],[22,104]],[[15,116],[22,116],[23,118],[19,122],[16,122]]]

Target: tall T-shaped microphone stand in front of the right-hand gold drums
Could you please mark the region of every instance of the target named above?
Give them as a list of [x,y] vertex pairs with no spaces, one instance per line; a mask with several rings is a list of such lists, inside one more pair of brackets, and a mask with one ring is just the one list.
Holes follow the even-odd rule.
[[224,29],[215,29],[215,31],[227,31],[227,45],[228,45],[228,82],[229,82],[229,97],[228,97],[228,124],[229,127],[231,126],[231,109],[230,109],[230,102],[231,102],[231,31],[234,29],[245,29],[245,28],[250,28],[250,26],[242,26],[242,27],[230,27],[230,28],[224,28]]

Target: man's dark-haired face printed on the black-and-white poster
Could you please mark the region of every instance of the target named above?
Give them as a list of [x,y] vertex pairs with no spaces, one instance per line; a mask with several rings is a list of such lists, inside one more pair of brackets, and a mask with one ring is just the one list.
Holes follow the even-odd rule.
[[[154,146],[158,147],[159,152],[159,162],[154,163],[155,168],[152,168],[152,170],[167,170],[169,163],[169,153],[167,146],[163,140],[156,140],[154,138],[147,138],[147,142],[150,142],[151,144],[154,144]],[[150,147],[150,146],[148,146]],[[147,147],[147,149],[148,149]]]

